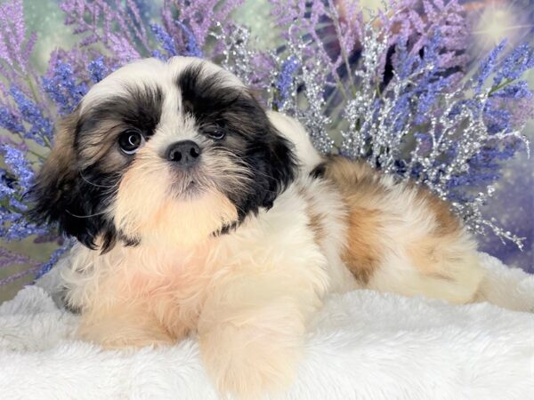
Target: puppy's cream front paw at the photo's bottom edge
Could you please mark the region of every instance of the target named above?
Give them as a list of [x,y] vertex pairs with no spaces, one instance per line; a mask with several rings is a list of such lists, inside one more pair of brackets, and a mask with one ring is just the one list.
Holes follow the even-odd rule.
[[294,380],[302,336],[267,326],[226,323],[200,336],[200,350],[221,394],[258,399],[283,391]]

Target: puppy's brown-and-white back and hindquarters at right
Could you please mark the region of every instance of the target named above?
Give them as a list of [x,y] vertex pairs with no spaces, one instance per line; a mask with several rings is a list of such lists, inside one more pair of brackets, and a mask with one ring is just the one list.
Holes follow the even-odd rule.
[[316,173],[347,207],[343,260],[368,288],[465,303],[481,282],[476,244],[442,201],[365,162],[333,156]]

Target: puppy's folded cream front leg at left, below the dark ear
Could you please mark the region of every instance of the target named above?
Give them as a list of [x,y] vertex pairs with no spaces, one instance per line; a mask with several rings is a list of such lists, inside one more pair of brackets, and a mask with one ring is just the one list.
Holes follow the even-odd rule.
[[167,324],[176,320],[173,293],[157,296],[147,291],[143,284],[150,283],[150,274],[136,275],[125,268],[122,249],[100,254],[77,244],[59,274],[67,306],[81,314],[80,339],[123,348],[165,344],[180,337],[179,325]]

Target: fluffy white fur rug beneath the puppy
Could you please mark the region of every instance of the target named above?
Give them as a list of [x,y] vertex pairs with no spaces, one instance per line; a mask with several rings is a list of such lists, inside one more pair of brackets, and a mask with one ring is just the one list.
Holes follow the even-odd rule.
[[[534,276],[481,257],[486,298],[534,309]],[[76,326],[41,287],[0,306],[0,398],[216,398],[196,341],[103,351],[73,340]],[[333,296],[282,398],[532,399],[534,315],[370,291]]]

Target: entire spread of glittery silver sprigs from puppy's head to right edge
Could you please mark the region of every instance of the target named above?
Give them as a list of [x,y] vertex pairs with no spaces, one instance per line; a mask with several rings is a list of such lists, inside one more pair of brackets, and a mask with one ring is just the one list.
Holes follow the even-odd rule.
[[[317,44],[306,42],[303,37],[288,41],[279,54],[256,51],[247,28],[236,27],[230,33],[216,37],[225,43],[223,66],[246,84],[254,85],[262,74],[268,76],[266,81],[270,84],[265,86],[263,81],[263,87],[259,87],[267,93],[265,101],[268,106],[298,118],[321,153],[365,159],[384,173],[394,174],[401,180],[415,180],[441,199],[448,200],[453,212],[473,232],[485,234],[491,231],[501,240],[507,239],[521,248],[521,237],[500,228],[496,220],[485,218],[481,212],[495,191],[493,185],[477,188],[471,194],[471,201],[456,201],[451,196],[450,183],[468,172],[468,161],[487,144],[513,139],[522,140],[528,148],[522,135],[524,125],[512,132],[490,134],[482,113],[459,101],[465,99],[469,85],[458,84],[455,89],[441,93],[441,111],[433,112],[430,122],[425,124],[426,140],[417,137],[415,133],[420,126],[416,128],[415,115],[396,113],[395,106],[410,85],[437,66],[416,68],[403,77],[393,72],[391,82],[380,88],[382,77],[377,71],[384,68],[389,37],[374,27],[373,22],[371,19],[362,28],[362,53],[357,68],[351,70],[348,66],[349,82],[343,90],[340,83],[335,82],[337,92],[335,88],[334,94],[326,92],[332,86],[331,65],[323,57],[310,57],[310,49]],[[254,62],[258,58],[263,58],[264,62]],[[288,60],[298,64],[299,68],[288,84],[286,97],[277,102],[279,81]],[[342,100],[332,107],[331,97],[339,92],[343,92]],[[473,94],[471,99],[483,109],[489,95],[490,89]],[[413,101],[416,100],[410,100]],[[338,121],[333,122],[334,117]],[[399,129],[393,129],[401,118],[404,119],[398,124]],[[332,132],[333,125],[337,134],[341,134],[338,144],[332,139],[336,135]]]

